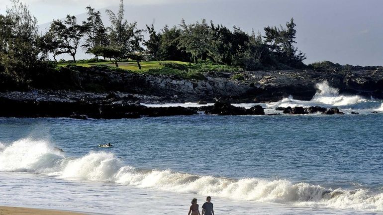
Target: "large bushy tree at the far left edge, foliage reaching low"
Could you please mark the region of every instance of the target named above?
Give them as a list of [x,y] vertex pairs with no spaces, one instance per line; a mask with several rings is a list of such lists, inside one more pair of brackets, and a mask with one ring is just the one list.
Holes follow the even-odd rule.
[[26,5],[11,0],[12,6],[0,15],[0,64],[5,75],[19,84],[31,80],[38,64],[38,25]]

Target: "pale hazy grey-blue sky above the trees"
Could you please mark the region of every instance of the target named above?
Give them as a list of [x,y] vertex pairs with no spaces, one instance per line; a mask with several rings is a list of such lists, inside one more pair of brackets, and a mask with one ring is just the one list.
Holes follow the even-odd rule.
[[[119,0],[21,0],[29,5],[42,28],[52,19],[85,12],[89,4],[104,12],[117,10]],[[0,13],[9,5],[0,0]],[[125,17],[140,27],[154,23],[187,23],[205,18],[227,27],[263,33],[267,25],[297,24],[296,45],[305,63],[330,60],[340,64],[383,65],[382,0],[125,0]],[[104,14],[104,13],[103,13]],[[79,20],[85,15],[78,16]],[[103,18],[107,22],[107,17]],[[64,55],[59,56],[64,58]],[[65,57],[70,59],[70,57]],[[79,55],[77,59],[81,59]]]

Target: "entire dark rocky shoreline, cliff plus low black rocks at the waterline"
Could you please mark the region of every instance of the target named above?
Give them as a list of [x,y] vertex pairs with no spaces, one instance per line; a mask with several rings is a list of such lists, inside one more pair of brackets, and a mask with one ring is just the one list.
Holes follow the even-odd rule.
[[[137,74],[100,68],[71,66],[57,71],[56,78],[28,91],[0,92],[2,117],[139,118],[141,116],[191,115],[197,111],[219,115],[265,114],[261,106],[237,108],[228,103],[276,102],[288,96],[310,100],[315,85],[327,81],[341,94],[383,99],[383,69],[350,71],[257,71],[207,72],[205,80],[177,76]],[[77,69],[78,71],[74,70]],[[240,74],[244,80],[233,80]],[[52,75],[53,77],[53,75]],[[66,81],[63,81],[66,80]],[[102,91],[91,90],[102,87]],[[216,102],[200,108],[148,108],[141,103]],[[287,114],[341,114],[336,108],[281,108]]]

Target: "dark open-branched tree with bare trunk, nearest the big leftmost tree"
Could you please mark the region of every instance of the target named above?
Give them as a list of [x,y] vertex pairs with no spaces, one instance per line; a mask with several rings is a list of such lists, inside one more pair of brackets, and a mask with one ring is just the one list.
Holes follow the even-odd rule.
[[58,54],[67,53],[73,57],[73,62],[76,63],[76,53],[80,45],[80,40],[84,37],[88,30],[88,25],[83,22],[82,25],[77,24],[76,16],[67,15],[63,21],[53,20],[49,31],[51,31],[58,41],[61,42]]

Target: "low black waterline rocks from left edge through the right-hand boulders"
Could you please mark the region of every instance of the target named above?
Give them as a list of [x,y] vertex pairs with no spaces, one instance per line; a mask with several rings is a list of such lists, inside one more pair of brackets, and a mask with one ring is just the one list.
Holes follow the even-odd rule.
[[[22,94],[19,92],[19,94]],[[13,96],[18,95],[15,92]],[[9,95],[8,95],[9,96]],[[18,95],[20,96],[20,95]],[[93,95],[94,96],[94,95]],[[36,99],[36,97],[38,97]],[[73,101],[71,96],[58,98],[55,95],[41,97],[38,93],[34,96],[29,94],[25,97],[6,98],[0,95],[0,117],[69,117],[75,119],[119,119],[141,118],[174,115],[194,115],[200,112],[215,115],[265,115],[264,108],[260,105],[251,108],[235,107],[228,102],[218,101],[212,106],[200,107],[146,107],[138,101],[129,100],[135,97],[119,97],[114,93],[101,97],[88,97]],[[338,108],[322,108],[319,106],[303,107],[279,107],[276,110],[284,114],[344,114]],[[358,114],[356,112],[352,112]],[[267,115],[276,115],[273,113]]]

